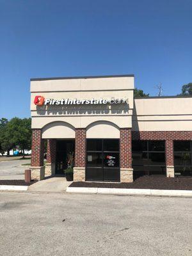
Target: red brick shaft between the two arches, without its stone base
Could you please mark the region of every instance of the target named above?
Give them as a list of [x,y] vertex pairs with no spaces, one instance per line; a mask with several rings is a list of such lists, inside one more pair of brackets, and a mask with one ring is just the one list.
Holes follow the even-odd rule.
[[85,167],[86,165],[86,129],[76,129],[75,166]]

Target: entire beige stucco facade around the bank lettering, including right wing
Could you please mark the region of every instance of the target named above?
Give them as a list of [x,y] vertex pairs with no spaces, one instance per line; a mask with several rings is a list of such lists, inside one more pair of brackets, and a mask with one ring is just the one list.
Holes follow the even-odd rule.
[[[119,138],[120,128],[191,131],[192,97],[133,100],[133,89],[134,77],[130,76],[31,81],[32,128],[42,128],[44,138],[74,138],[75,128],[86,128],[90,138],[99,138],[100,134],[104,134],[102,138]],[[40,107],[33,103],[36,95],[51,99],[124,98],[128,99],[128,104]],[[60,122],[60,125],[53,125],[55,122]],[[97,127],[95,122],[98,122]],[[48,124],[51,124],[49,129]],[[111,131],[111,134],[106,131]]]

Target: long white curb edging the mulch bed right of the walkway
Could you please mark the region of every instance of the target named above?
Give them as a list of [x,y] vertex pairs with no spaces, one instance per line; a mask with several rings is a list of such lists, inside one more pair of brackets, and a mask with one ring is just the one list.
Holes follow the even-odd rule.
[[170,190],[170,189],[126,189],[126,188],[77,188],[67,187],[68,193],[91,193],[111,195],[145,195],[145,196],[189,196],[192,190]]

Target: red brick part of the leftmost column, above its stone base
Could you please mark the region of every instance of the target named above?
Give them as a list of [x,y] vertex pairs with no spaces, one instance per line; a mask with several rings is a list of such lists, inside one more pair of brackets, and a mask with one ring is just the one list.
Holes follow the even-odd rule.
[[44,166],[44,140],[41,129],[32,129],[31,166]]

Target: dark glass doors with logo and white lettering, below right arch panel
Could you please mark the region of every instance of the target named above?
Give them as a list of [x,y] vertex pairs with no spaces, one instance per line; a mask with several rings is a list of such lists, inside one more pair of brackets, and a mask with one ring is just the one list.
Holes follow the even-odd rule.
[[120,181],[118,139],[87,139],[86,180]]

